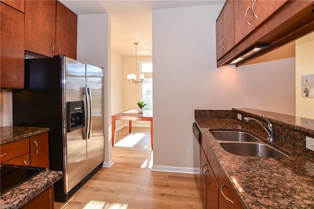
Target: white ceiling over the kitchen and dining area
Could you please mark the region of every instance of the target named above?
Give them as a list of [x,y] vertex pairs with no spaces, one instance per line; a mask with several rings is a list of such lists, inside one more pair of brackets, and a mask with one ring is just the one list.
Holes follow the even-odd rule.
[[111,49],[122,56],[152,55],[152,10],[223,4],[225,0],[59,0],[77,15],[108,13]]

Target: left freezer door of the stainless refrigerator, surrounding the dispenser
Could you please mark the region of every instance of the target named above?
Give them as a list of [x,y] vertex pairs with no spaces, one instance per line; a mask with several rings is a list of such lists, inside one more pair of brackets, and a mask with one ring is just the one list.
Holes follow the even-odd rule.
[[[62,57],[62,68],[65,69],[63,94],[64,105],[67,102],[83,101],[83,90],[85,88],[85,64],[77,60]],[[63,117],[66,120],[66,106],[63,109]],[[66,125],[66,124],[65,124]],[[86,140],[83,139],[84,127],[66,132],[63,129],[63,166],[64,166],[64,193],[68,193],[87,175],[86,164]]]

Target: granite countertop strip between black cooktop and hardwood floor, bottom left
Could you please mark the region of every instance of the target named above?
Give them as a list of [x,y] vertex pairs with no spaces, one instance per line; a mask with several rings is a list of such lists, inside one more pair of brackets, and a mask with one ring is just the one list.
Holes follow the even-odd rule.
[[0,206],[20,208],[62,177],[61,171],[46,170],[0,196]]

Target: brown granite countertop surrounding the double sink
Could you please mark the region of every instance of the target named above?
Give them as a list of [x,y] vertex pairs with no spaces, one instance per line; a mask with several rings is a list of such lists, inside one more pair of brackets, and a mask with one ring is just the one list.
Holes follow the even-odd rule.
[[[235,119],[195,118],[195,122],[216,155],[222,170],[227,174],[230,183],[234,185],[244,208],[314,208],[314,157],[307,156],[289,146],[281,149],[289,155],[288,158],[233,155],[226,152],[209,131],[229,130],[256,133],[254,128],[243,125]],[[276,148],[281,147],[279,145]],[[237,181],[243,191],[241,189],[241,192],[239,191],[239,187],[233,183],[231,177]]]

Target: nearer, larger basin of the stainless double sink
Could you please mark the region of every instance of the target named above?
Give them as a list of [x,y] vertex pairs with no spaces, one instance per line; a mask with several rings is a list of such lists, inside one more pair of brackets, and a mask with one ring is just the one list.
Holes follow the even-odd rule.
[[221,147],[232,154],[251,157],[288,157],[279,150],[262,143],[221,142]]

